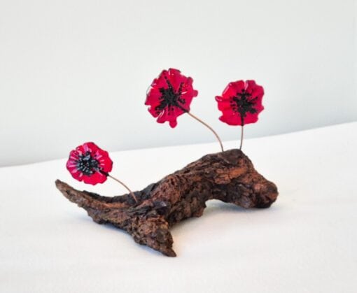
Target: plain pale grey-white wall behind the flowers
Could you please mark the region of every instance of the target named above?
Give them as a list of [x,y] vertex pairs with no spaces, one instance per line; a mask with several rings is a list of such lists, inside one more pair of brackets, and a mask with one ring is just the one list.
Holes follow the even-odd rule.
[[[162,69],[192,76],[191,112],[224,140],[214,96],[265,87],[246,137],[357,120],[353,0],[0,0],[0,166],[107,150],[214,141],[190,117],[157,124],[144,106]],[[332,138],[331,138],[332,139]],[[238,140],[237,140],[238,144]]]

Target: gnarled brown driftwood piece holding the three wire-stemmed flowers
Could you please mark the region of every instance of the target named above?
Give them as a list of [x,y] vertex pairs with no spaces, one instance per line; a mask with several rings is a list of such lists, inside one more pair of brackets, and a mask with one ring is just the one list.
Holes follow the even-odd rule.
[[188,217],[200,217],[206,201],[219,199],[243,208],[268,208],[278,196],[274,183],[255,171],[241,150],[205,155],[144,190],[100,196],[78,191],[56,180],[67,199],[87,210],[94,222],[113,224],[127,231],[137,243],[175,257],[169,228]]

